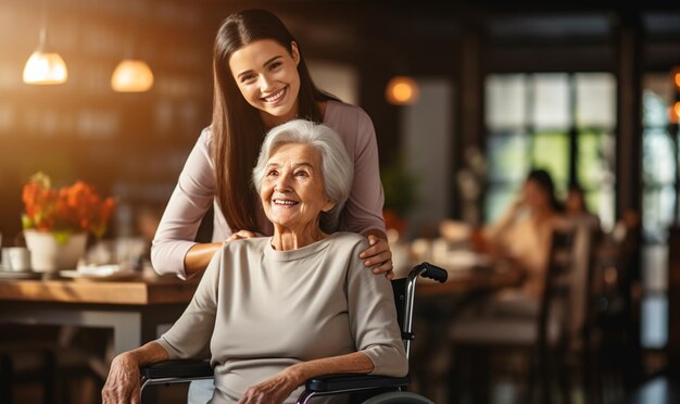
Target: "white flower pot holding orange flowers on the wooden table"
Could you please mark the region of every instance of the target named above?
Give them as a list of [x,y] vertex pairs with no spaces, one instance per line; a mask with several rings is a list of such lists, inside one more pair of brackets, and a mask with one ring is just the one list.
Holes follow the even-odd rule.
[[60,243],[48,231],[24,230],[26,247],[30,250],[30,266],[37,273],[54,273],[75,269],[85,255],[87,233],[72,233],[65,243]]

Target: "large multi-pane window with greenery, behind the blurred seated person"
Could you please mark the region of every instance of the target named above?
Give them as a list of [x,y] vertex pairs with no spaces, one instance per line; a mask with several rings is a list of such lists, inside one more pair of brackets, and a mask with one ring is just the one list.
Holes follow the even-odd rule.
[[558,197],[587,192],[603,228],[614,225],[616,81],[608,73],[494,74],[486,83],[489,161],[486,222],[509,205],[530,168],[549,171]]

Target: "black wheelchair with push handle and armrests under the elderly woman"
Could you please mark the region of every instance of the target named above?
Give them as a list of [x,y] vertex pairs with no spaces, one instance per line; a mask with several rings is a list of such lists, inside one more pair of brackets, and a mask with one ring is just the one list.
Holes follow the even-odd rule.
[[[411,352],[413,333],[413,308],[416,280],[418,277],[445,282],[448,273],[430,263],[423,262],[411,269],[406,278],[392,280],[392,292],[396,305],[399,328],[406,351]],[[140,401],[143,403],[146,388],[152,384],[169,384],[191,380],[212,379],[213,368],[207,359],[173,359],[142,367]],[[378,375],[326,375],[305,382],[304,392],[298,404],[306,404],[316,396],[350,394],[350,402],[364,404],[433,404],[430,400],[405,391],[411,382],[410,375],[388,377]],[[361,397],[361,399],[357,399]],[[367,399],[367,400],[365,400]],[[365,400],[365,401],[364,401]]]

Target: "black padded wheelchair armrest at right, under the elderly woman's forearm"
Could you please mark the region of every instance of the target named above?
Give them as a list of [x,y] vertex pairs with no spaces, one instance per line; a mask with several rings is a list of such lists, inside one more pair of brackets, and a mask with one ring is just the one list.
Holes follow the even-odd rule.
[[332,392],[402,387],[411,382],[411,376],[390,377],[379,375],[325,375],[306,381],[305,388],[313,392]]

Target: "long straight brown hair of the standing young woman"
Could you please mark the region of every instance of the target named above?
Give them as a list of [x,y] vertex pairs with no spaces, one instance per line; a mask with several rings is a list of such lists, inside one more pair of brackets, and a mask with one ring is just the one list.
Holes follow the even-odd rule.
[[[292,52],[291,42],[295,41],[276,15],[266,10],[245,10],[223,22],[213,47],[212,156],[219,207],[232,231],[257,230],[255,209],[260,202],[251,186],[250,174],[257,161],[265,127],[260,111],[241,94],[231,75],[229,59],[240,48],[261,39],[275,40],[289,53]],[[298,51],[298,116],[322,122],[318,102],[332,97],[314,86],[300,43]]]

